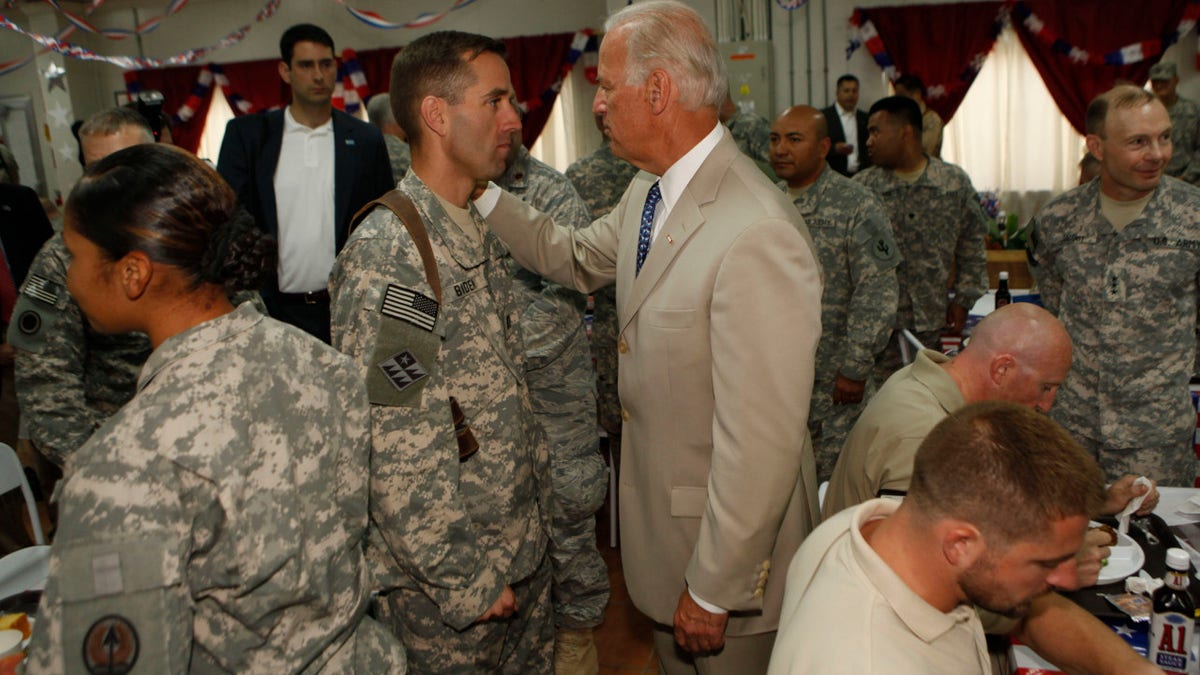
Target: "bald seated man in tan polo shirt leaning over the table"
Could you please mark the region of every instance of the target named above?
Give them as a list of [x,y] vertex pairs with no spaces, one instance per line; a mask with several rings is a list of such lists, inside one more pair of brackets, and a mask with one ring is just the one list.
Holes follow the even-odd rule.
[[[1072,344],[1062,322],[1028,303],[1001,307],[979,322],[967,346],[950,359],[924,350],[880,388],[854,423],[829,480],[822,514],[833,514],[880,496],[904,496],[912,479],[917,447],[947,414],[967,404],[1010,401],[1046,412],[1070,370]],[[1115,482],[1102,513],[1120,512],[1146,494],[1134,476]],[[1150,488],[1138,513],[1158,503]],[[1102,533],[1093,542],[1106,540]],[[1096,583],[1105,546],[1081,551],[1080,579],[1073,587]]]

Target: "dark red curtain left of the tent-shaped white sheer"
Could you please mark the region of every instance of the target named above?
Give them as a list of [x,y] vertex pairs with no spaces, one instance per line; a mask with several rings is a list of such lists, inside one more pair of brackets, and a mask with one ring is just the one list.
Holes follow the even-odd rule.
[[[925,104],[950,121],[1000,34],[997,17],[1004,2],[908,5],[859,8],[875,24],[900,74],[925,83]],[[944,95],[929,94],[944,89]]]

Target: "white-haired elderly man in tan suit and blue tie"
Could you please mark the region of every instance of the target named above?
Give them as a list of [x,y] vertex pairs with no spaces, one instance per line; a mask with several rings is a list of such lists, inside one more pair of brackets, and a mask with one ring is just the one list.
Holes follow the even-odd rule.
[[492,189],[476,203],[522,264],[581,291],[617,282],[622,556],[666,673],[766,671],[774,572],[817,520],[821,270],[799,213],[718,123],[725,91],[695,11],[625,7],[593,104],[642,169],[617,208],[571,229]]

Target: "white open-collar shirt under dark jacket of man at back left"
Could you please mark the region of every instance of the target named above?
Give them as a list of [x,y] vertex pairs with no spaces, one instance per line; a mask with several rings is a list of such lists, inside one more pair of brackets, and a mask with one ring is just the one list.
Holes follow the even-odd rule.
[[334,120],[310,129],[283,113],[283,145],[275,165],[280,291],[307,293],[329,285],[334,269]]

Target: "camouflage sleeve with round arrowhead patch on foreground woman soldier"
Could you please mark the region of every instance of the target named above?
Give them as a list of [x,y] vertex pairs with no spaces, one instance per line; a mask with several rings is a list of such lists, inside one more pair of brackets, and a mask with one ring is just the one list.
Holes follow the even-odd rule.
[[148,673],[188,668],[186,490],[130,441],[114,434],[89,446],[106,461],[83,462],[62,485],[26,673],[120,673],[134,662]]

